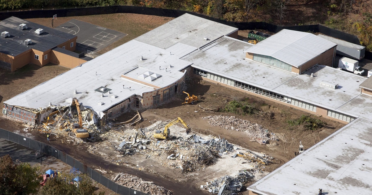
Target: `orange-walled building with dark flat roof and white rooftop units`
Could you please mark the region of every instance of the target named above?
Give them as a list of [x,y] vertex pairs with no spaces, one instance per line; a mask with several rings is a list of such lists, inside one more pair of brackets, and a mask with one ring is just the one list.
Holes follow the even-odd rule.
[[[77,36],[17,17],[1,21],[0,32],[0,68],[9,71],[15,71],[29,63],[39,66],[49,62],[55,64],[58,60],[53,57],[61,53],[57,53],[55,48],[68,51],[76,49]],[[69,58],[73,60],[76,57],[63,55],[63,58],[64,61],[69,61]],[[76,66],[84,62],[79,61]]]

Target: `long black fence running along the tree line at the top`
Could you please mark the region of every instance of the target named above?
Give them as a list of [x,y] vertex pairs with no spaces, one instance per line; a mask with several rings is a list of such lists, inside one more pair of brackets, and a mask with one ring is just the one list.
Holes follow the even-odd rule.
[[[282,29],[297,30],[302,32],[322,33],[324,35],[332,36],[337,39],[345,40],[350,43],[360,45],[359,39],[355,35],[350,35],[339,30],[330,29],[323,25],[301,25],[301,26],[280,26],[266,22],[230,22],[226,20],[216,19],[198,13],[187,12],[184,10],[171,10],[153,7],[138,7],[138,6],[104,6],[104,7],[85,7],[85,8],[68,8],[68,9],[53,9],[53,10],[29,10],[29,11],[11,11],[0,12],[0,20],[7,19],[10,16],[26,18],[51,18],[57,14],[58,17],[68,16],[87,16],[96,14],[111,14],[111,13],[135,13],[153,16],[178,17],[182,14],[189,13],[208,20],[219,22],[225,25],[237,27],[239,30],[247,29],[263,29],[270,32],[279,32]],[[372,59],[372,53],[366,51],[365,58]]]

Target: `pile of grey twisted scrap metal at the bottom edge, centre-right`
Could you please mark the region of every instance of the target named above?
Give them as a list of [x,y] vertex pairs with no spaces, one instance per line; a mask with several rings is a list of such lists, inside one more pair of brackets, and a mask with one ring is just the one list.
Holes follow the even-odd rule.
[[226,175],[214,181],[207,182],[206,185],[202,185],[201,188],[218,195],[234,195],[240,192],[249,178],[253,178],[250,170],[240,170],[239,174],[235,177]]

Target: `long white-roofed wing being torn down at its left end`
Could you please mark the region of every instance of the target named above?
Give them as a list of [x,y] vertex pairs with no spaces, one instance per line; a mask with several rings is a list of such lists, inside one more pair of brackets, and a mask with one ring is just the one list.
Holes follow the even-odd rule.
[[[192,64],[180,58],[220,36],[237,34],[237,28],[190,14],[172,20],[175,24],[179,25],[173,32],[176,38],[160,40],[153,31],[145,33],[4,101],[3,114],[28,124],[41,124],[54,107],[69,106],[69,100],[77,98],[106,121],[133,108],[166,103],[182,92],[186,77],[183,70]],[[169,34],[174,31],[172,25],[166,23],[156,30]]]

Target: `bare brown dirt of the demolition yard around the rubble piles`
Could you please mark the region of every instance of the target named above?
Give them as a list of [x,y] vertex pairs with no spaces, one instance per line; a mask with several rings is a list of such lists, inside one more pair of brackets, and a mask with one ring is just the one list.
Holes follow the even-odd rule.
[[[221,85],[198,80],[196,78],[190,79],[187,83],[187,92],[198,95],[201,98],[201,101],[198,101],[198,103],[194,105],[182,105],[185,94],[180,94],[170,103],[161,105],[156,109],[142,110],[141,114],[144,117],[144,121],[137,124],[135,128],[150,126],[154,121],[158,120],[166,121],[173,120],[176,117],[181,117],[187,124],[189,124],[192,133],[200,133],[215,137],[219,136],[227,139],[230,143],[237,144],[246,149],[273,156],[276,162],[273,162],[265,168],[267,172],[271,172],[295,156],[294,153],[298,151],[300,140],[305,149],[307,149],[343,126],[343,124],[335,121],[314,116],[315,118],[320,118],[322,121],[325,121],[327,126],[317,131],[290,129],[286,122],[287,120],[299,118],[302,114],[307,113],[271,101],[266,101],[243,92],[238,92],[230,88],[221,87]],[[234,116],[232,113],[204,113],[198,107],[198,105],[201,105],[204,108],[223,108],[227,102],[231,100],[247,101],[260,108],[264,114],[246,116],[238,115],[236,117],[262,125],[270,132],[278,135],[279,141],[272,141],[266,146],[260,145],[257,142],[250,142],[249,140],[251,138],[242,131],[226,130],[221,127],[211,126],[208,124],[208,120],[202,119],[202,117],[210,115]],[[116,121],[124,121],[133,116],[134,112],[125,113],[121,117],[117,118]],[[9,124],[9,120],[4,119],[3,117],[1,118],[0,123],[0,127],[5,129],[9,129],[9,126],[12,126],[14,127],[13,129],[17,130],[23,129],[23,126],[16,122],[6,125]],[[6,126],[4,126],[4,124]],[[20,133],[24,132],[20,130]],[[45,142],[46,140],[45,134],[40,134],[38,131],[27,133],[32,133],[33,139],[42,142]],[[162,166],[161,162],[158,160],[146,159],[144,156],[140,155],[121,157],[120,159],[124,163],[119,164],[112,160],[113,157],[107,158],[94,156],[87,152],[89,146],[94,146],[94,144],[97,143],[70,145],[64,143],[63,137],[52,138],[50,143],[92,168],[108,171],[106,174],[108,177],[117,172],[123,172],[123,168],[125,168],[125,173],[141,177],[145,181],[154,181],[155,184],[164,186],[166,189],[173,191],[174,194],[182,194],[182,192],[188,191],[200,194],[201,191],[198,189],[198,186],[205,183],[204,181],[211,181],[216,176],[220,176],[220,174],[216,173],[217,171],[212,168],[201,172],[184,174],[180,170],[171,170]],[[260,175],[260,177],[262,176],[263,175]],[[247,192],[242,192],[242,194],[247,194]]]

